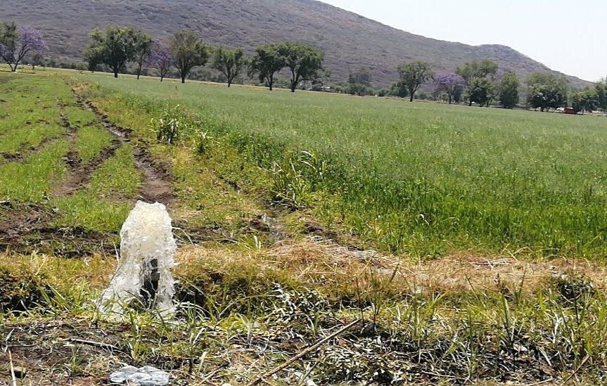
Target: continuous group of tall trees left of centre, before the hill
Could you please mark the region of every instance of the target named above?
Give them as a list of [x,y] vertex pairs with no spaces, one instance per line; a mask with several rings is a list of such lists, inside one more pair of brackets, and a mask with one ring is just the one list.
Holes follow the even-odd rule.
[[175,67],[181,82],[185,83],[194,67],[208,64],[224,75],[228,86],[248,69],[250,77],[258,77],[271,90],[274,75],[288,69],[290,89],[295,92],[301,82],[317,79],[324,60],[322,51],[293,41],[264,44],[255,49],[253,56],[245,57],[242,48],[211,46],[191,31],[175,33],[168,44],[153,41],[148,34],[133,27],[96,29],[90,37],[91,43],[84,54],[89,70],[106,65],[115,77],[127,63],[134,62],[138,78],[144,65],[155,68],[161,81]]

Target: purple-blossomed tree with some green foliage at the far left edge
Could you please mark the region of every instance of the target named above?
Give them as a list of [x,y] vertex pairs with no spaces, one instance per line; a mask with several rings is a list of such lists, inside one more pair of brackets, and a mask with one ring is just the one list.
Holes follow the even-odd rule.
[[17,27],[14,22],[0,23],[0,58],[11,67],[11,72],[17,71],[28,53],[41,53],[46,49],[40,31],[30,27]]

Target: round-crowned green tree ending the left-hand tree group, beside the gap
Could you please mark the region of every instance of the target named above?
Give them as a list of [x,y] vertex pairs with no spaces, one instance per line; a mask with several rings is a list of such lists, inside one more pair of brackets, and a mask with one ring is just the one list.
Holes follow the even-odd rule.
[[285,67],[291,72],[290,89],[295,92],[302,81],[317,79],[322,70],[324,53],[309,44],[286,41],[279,46]]

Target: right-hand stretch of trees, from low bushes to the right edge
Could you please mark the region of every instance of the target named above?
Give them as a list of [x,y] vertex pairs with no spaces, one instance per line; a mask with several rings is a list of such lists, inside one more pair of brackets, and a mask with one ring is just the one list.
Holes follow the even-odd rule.
[[[429,63],[415,61],[401,65],[400,79],[388,89],[373,89],[371,72],[362,68],[350,74],[347,84],[338,91],[353,95],[377,95],[416,98],[422,86],[430,95],[423,99],[442,100],[449,104],[466,101],[468,105],[489,107],[497,102],[504,108],[524,105],[549,111],[572,107],[575,112],[607,111],[607,80],[596,82],[582,90],[573,89],[569,80],[554,72],[533,72],[525,79],[526,88],[515,72],[506,71],[498,77],[499,67],[492,60],[476,60],[456,67],[454,73],[433,72]],[[522,94],[526,98],[521,101]]]

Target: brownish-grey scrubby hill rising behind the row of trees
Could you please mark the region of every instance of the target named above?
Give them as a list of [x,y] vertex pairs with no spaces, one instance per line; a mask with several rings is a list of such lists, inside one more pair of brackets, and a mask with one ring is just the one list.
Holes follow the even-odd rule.
[[[485,58],[522,77],[549,70],[506,46],[429,39],[315,0],[4,0],[0,20],[42,30],[53,57],[69,61],[81,60],[91,28],[118,24],[134,25],[161,39],[192,29],[210,43],[249,50],[269,41],[306,41],[326,52],[336,82],[350,70],[369,67],[376,86],[391,84],[397,65],[408,60],[426,60],[437,71]],[[587,84],[569,78],[577,86]]]

